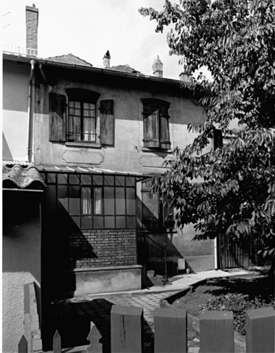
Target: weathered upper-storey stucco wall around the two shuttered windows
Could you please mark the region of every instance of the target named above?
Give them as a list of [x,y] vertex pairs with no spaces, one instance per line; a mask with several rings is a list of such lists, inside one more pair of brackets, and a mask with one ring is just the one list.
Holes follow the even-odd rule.
[[[119,83],[119,78],[117,79]],[[67,88],[85,88],[100,93],[99,100],[113,99],[115,117],[115,145],[104,148],[83,148],[49,141],[48,92],[66,94]],[[169,94],[169,86],[163,92],[138,87],[131,89],[115,83],[104,85],[95,81],[72,83],[61,79],[54,85],[41,85],[36,90],[35,114],[35,163],[49,165],[98,165],[100,168],[131,172],[162,172],[162,162],[172,153],[144,150],[142,98],[158,98],[170,102],[169,130],[171,149],[183,148],[195,134],[187,133],[187,124],[203,121],[201,108],[195,101],[176,94]],[[167,92],[167,93],[166,93]],[[97,114],[98,115],[98,114]]]

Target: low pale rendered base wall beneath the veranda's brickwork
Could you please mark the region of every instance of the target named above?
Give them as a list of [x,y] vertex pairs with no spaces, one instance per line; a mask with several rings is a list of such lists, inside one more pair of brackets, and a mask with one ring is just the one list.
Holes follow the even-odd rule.
[[113,266],[109,268],[78,268],[74,271],[74,296],[122,292],[142,288],[142,266]]

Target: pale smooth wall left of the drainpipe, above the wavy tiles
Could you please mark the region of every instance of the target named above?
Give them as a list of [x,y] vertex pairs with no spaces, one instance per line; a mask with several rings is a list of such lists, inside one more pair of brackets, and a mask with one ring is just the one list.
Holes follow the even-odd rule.
[[30,64],[3,61],[3,160],[6,161],[26,159],[29,79]]

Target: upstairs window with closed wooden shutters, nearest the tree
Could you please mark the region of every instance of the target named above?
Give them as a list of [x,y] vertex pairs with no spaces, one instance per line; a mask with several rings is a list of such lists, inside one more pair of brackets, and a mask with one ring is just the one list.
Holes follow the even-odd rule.
[[143,141],[146,148],[170,148],[169,115],[170,103],[160,99],[142,99]]

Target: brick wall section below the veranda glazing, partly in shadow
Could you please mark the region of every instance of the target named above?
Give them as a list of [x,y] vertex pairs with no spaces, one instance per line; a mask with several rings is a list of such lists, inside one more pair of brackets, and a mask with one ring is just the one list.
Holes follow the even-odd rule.
[[91,230],[69,234],[67,265],[72,268],[95,268],[136,265],[135,230]]

